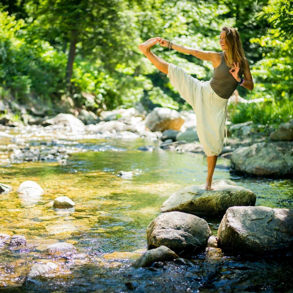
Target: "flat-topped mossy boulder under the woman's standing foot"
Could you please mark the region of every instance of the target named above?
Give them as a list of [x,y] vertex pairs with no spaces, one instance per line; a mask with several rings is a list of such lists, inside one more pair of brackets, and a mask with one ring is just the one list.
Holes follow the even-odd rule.
[[205,185],[192,185],[173,193],[162,205],[161,212],[179,211],[194,215],[223,216],[234,205],[255,205],[256,195],[231,180],[214,180],[214,190]]

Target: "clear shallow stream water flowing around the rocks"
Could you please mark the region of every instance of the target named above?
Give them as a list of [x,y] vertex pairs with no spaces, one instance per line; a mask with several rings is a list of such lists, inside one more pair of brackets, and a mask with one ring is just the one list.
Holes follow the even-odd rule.
[[[41,139],[29,140],[33,145]],[[27,245],[0,246],[0,292],[293,292],[292,255],[244,258],[209,249],[185,264],[131,267],[147,248],[146,227],[160,214],[162,203],[180,188],[205,182],[205,156],[163,151],[157,142],[142,139],[58,143],[78,150],[67,165],[9,165],[2,155],[0,182],[11,185],[13,192],[0,197],[0,233],[24,235]],[[138,151],[143,145],[155,150]],[[214,179],[231,179],[254,191],[256,205],[293,207],[293,180],[236,177],[229,165],[228,159],[219,158]],[[121,178],[119,171],[132,171],[133,176]],[[18,195],[25,180],[37,182],[45,194]],[[52,201],[61,195],[76,206],[54,209]],[[221,219],[207,221],[216,235]],[[66,258],[44,255],[42,250],[55,242],[71,243],[78,252]],[[48,259],[59,270],[24,282],[33,264]]]

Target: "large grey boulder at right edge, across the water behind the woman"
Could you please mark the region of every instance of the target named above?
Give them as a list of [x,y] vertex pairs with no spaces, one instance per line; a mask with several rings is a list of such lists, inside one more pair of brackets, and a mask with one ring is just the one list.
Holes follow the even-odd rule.
[[284,176],[292,174],[292,150],[283,154],[275,144],[260,142],[236,149],[231,155],[231,168],[257,176]]

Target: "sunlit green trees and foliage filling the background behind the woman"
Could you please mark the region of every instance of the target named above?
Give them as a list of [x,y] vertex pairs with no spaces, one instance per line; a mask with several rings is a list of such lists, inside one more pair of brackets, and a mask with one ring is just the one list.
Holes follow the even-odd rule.
[[[138,44],[158,35],[219,52],[221,28],[234,26],[255,84],[253,91],[239,87],[239,93],[265,102],[230,105],[230,120],[284,122],[292,117],[291,6],[290,0],[2,1],[0,87],[23,103],[34,98],[56,105],[64,93],[69,94],[76,107],[93,111],[130,107],[138,101],[186,108]],[[159,45],[152,51],[198,79],[212,77],[210,62]]]

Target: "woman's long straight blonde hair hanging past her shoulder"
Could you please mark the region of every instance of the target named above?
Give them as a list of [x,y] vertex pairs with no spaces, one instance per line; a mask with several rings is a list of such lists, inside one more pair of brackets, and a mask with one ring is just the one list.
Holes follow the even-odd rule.
[[233,62],[235,62],[236,64],[237,62],[239,62],[240,72],[244,74],[246,71],[245,53],[242,48],[242,43],[238,30],[236,30],[235,28],[224,26],[222,28],[222,31],[226,32],[226,57],[228,63],[233,66]]

